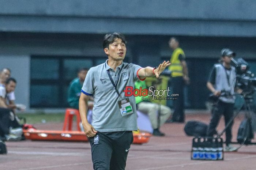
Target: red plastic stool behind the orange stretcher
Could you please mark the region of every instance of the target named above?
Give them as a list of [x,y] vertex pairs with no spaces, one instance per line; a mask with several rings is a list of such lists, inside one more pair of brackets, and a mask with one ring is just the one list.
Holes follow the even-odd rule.
[[[72,131],[73,116],[76,116],[76,125],[78,131],[81,131],[79,123],[81,121],[79,110],[67,108],[65,113],[65,120],[63,125],[63,131]],[[68,130],[66,130],[68,125]]]

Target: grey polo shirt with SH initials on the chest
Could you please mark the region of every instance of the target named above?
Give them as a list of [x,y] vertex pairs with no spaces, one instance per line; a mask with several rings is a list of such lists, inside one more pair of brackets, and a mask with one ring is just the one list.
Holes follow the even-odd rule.
[[[138,127],[135,97],[125,97],[123,90],[126,86],[134,88],[134,83],[139,79],[137,72],[141,67],[135,64],[122,63],[115,72],[109,67],[107,61],[90,68],[82,87],[84,94],[94,96],[92,125],[99,132],[136,131]],[[121,70],[117,90],[123,99],[129,98],[133,109],[132,114],[122,117],[118,107],[120,97],[118,97],[109,79],[107,70],[109,70],[114,82],[116,82],[118,72]]]

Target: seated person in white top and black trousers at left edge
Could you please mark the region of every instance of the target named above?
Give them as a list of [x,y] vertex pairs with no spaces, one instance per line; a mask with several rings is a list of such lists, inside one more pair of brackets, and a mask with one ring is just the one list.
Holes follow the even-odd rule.
[[7,79],[5,86],[0,87],[0,135],[6,140],[20,140],[22,135],[21,125],[12,112],[16,106],[8,105],[6,101],[6,97],[15,90],[15,87],[16,80],[14,78]]

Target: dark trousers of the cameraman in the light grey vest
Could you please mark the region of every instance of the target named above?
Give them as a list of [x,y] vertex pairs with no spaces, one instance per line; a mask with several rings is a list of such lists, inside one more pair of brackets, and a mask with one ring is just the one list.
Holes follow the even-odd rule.
[[[212,108],[212,117],[210,121],[210,125],[207,131],[207,136],[213,136],[216,133],[216,127],[219,124],[219,120],[223,114],[225,119],[225,125],[233,118],[234,113],[234,104],[233,103],[224,103],[222,101],[218,101],[216,105]],[[232,139],[232,125],[233,121],[226,129],[226,145],[230,144]]]

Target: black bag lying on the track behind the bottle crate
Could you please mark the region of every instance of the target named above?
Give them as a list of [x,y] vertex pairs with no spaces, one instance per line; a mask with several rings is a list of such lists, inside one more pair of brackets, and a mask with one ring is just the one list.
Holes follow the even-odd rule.
[[203,137],[206,136],[208,125],[200,122],[191,120],[188,121],[184,127],[184,131],[188,136]]

